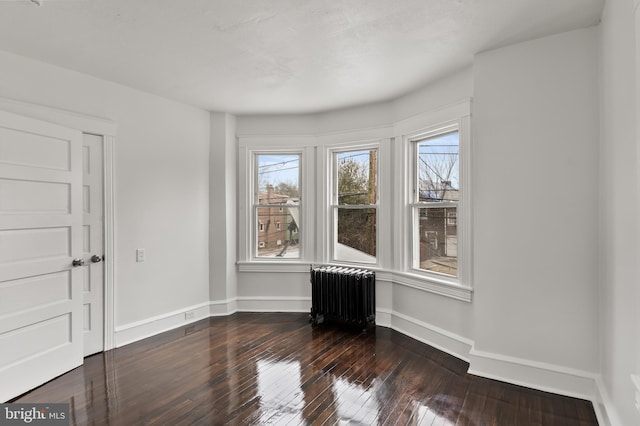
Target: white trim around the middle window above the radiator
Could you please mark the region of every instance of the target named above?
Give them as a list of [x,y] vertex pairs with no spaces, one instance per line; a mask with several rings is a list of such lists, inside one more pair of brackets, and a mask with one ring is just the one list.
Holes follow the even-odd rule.
[[[337,229],[337,211],[340,207],[337,204],[337,188],[338,188],[338,168],[336,164],[337,154],[341,152],[349,152],[349,151],[364,151],[368,149],[375,149],[378,152],[377,156],[377,176],[376,176],[376,184],[377,184],[377,200],[376,204],[371,204],[366,207],[362,207],[358,205],[358,207],[353,206],[341,206],[341,208],[375,208],[376,210],[376,224],[377,224],[377,232],[376,232],[376,261],[375,262],[356,262],[356,261],[345,261],[343,259],[336,258],[336,244],[338,241],[338,229]],[[327,164],[327,179],[325,182],[325,191],[326,191],[326,221],[325,224],[329,232],[325,233],[324,246],[326,247],[325,254],[325,263],[331,263],[334,265],[344,265],[344,266],[358,266],[358,267],[366,267],[366,268],[377,268],[380,266],[380,220],[381,220],[381,199],[383,198],[383,188],[380,181],[381,176],[381,159],[383,156],[381,141],[376,140],[372,141],[364,141],[364,142],[356,142],[356,143],[343,143],[339,145],[331,145],[325,148],[325,161]]]

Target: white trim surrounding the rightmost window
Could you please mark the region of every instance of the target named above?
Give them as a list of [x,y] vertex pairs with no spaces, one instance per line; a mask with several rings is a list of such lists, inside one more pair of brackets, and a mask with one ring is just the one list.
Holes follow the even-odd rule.
[[[456,111],[459,113],[459,111]],[[438,117],[442,119],[442,116]],[[404,203],[406,222],[403,232],[406,241],[402,243],[402,252],[404,253],[404,261],[401,262],[399,276],[411,278],[411,286],[418,285],[423,282],[422,287],[425,289],[441,293],[443,285],[445,287],[460,288],[468,295],[460,297],[456,293],[456,298],[471,301],[471,277],[472,277],[472,236],[471,236],[471,132],[470,132],[470,109],[466,114],[460,115],[449,120],[442,120],[439,123],[432,123],[415,131],[407,131],[399,136],[403,141],[402,150],[405,166],[404,179]],[[417,255],[415,242],[415,214],[419,203],[415,202],[414,191],[417,184],[417,161],[416,140],[437,136],[438,134],[447,133],[451,130],[459,132],[459,166],[460,166],[460,201],[457,203],[457,230],[458,230],[458,276],[451,277],[445,274],[425,271],[414,267],[414,258]],[[416,280],[419,278],[420,280]],[[401,279],[402,283],[402,279]]]

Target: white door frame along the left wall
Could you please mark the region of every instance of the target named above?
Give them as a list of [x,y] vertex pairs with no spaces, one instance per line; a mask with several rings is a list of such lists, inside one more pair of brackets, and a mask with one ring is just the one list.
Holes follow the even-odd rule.
[[116,124],[73,111],[0,97],[0,109],[103,138],[104,173],[104,350],[115,348],[115,176]]

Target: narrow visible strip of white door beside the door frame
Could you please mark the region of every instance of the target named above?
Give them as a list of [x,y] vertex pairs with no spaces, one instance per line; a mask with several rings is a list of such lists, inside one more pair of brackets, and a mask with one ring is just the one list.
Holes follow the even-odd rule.
[[82,136],[84,356],[104,350],[104,215],[102,136]]

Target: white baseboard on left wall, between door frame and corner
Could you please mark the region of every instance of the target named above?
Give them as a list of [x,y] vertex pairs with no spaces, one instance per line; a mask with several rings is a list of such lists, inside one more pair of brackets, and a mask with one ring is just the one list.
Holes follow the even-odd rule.
[[115,328],[115,347],[119,348],[209,316],[209,302],[206,302],[125,324]]

